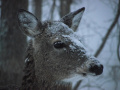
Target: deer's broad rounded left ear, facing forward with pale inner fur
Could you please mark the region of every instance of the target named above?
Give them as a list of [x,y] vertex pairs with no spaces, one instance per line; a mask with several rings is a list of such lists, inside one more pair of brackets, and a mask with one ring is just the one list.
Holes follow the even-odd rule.
[[22,31],[30,37],[40,33],[38,19],[30,12],[20,9],[17,14],[18,23]]

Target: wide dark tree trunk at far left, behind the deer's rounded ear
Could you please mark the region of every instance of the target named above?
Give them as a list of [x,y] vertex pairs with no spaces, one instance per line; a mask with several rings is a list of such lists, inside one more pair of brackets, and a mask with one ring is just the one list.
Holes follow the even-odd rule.
[[0,26],[0,86],[20,85],[26,36],[17,25],[17,10],[27,9],[27,0],[2,0]]

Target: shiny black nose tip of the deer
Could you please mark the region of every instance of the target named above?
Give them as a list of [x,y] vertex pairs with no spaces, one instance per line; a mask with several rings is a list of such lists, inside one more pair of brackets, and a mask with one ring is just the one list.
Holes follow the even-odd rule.
[[100,75],[103,72],[103,65],[91,65],[89,71],[91,73],[95,73],[96,75]]

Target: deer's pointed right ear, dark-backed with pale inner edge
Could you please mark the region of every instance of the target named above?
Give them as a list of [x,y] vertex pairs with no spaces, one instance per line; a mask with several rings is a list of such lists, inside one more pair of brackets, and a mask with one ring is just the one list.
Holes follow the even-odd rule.
[[68,25],[71,29],[76,31],[84,10],[85,8],[83,7],[81,9],[78,9],[77,11],[71,12],[63,16],[60,21],[62,21],[64,24]]

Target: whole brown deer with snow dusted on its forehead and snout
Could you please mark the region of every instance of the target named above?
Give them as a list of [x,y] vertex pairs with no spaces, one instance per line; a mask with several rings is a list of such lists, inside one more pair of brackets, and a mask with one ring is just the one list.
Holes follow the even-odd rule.
[[21,90],[75,90],[81,76],[102,74],[103,65],[75,34],[84,11],[80,8],[58,21],[40,21],[31,12],[18,11],[19,27],[31,37]]

